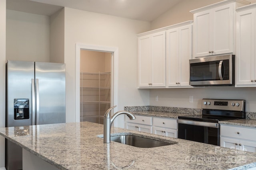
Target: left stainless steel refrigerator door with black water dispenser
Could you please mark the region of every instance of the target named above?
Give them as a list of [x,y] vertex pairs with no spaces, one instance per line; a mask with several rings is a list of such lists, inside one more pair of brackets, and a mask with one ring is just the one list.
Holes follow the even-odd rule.
[[[8,61],[6,63],[6,127],[32,125],[32,79],[34,78],[34,62]],[[29,100],[29,118],[21,118],[22,104],[19,108],[15,99]],[[20,114],[22,115],[22,114]],[[16,117],[15,117],[16,116]],[[14,119],[15,118],[15,119]]]

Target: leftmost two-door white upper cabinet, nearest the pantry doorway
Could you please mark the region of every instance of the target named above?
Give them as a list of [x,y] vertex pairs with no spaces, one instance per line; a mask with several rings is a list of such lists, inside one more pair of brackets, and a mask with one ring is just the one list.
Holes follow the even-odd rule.
[[138,86],[166,86],[165,31],[138,37]]

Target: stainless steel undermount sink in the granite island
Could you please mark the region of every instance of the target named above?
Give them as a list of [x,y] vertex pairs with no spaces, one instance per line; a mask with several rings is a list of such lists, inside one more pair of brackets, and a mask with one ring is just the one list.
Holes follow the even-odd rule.
[[110,137],[110,141],[131,145],[139,148],[154,148],[154,147],[162,147],[166,145],[173,145],[177,142],[170,141],[170,143],[156,141],[153,139],[147,139],[144,137],[137,137],[133,135],[120,135],[120,136],[112,136]]

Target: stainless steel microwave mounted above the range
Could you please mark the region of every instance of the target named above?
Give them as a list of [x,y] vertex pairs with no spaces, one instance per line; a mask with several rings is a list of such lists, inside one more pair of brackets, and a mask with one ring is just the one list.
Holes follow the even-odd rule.
[[189,60],[191,86],[233,86],[235,55]]

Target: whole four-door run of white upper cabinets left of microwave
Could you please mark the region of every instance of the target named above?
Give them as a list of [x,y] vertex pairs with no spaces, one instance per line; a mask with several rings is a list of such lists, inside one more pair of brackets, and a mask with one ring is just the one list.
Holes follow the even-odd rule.
[[188,75],[192,23],[186,21],[137,35],[138,88],[192,87]]

